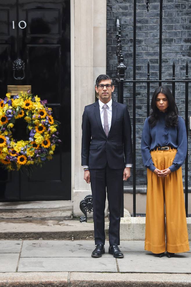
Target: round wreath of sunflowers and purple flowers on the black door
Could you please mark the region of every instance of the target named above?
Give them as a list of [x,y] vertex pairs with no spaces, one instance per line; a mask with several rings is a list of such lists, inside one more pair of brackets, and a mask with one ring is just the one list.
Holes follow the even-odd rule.
[[[52,159],[58,145],[58,124],[52,117],[52,109],[46,107],[37,95],[21,92],[0,99],[0,163],[7,170],[19,170],[31,165],[40,165]],[[27,125],[28,140],[15,140],[14,125],[21,119]]]

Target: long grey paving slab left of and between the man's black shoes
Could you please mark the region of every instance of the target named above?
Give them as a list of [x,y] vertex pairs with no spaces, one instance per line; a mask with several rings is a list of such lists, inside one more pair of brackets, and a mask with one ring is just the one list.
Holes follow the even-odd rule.
[[[91,257],[94,248],[94,241],[89,240],[24,240],[21,257]],[[106,252],[103,257],[111,255]]]

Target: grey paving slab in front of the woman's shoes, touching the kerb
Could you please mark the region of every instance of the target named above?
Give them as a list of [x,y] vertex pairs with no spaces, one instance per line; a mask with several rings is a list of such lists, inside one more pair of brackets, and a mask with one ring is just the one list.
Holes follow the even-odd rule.
[[159,258],[151,252],[125,253],[118,260],[119,272],[191,273],[191,253],[178,253],[173,258]]

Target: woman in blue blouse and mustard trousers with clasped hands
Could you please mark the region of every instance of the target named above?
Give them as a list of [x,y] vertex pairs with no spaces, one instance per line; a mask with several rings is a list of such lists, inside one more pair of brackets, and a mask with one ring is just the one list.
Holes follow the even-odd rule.
[[181,168],[187,154],[187,134],[169,88],[154,91],[151,108],[141,140],[147,167],[145,250],[159,257],[167,251],[170,258],[189,250]]

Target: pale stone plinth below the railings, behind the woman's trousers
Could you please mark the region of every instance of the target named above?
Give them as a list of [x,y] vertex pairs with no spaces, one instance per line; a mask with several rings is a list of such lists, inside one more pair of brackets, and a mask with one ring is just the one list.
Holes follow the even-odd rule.
[[[186,218],[188,227],[188,238],[191,240],[191,217]],[[121,218],[120,222],[121,240],[145,240],[145,217]]]

